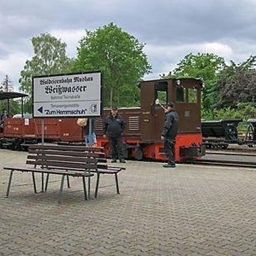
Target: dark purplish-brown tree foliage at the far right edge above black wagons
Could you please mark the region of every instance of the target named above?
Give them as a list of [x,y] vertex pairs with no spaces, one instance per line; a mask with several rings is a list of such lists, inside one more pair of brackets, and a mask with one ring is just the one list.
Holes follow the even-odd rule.
[[220,106],[232,108],[240,102],[256,103],[256,56],[243,63],[230,65],[221,72],[217,84],[220,88]]

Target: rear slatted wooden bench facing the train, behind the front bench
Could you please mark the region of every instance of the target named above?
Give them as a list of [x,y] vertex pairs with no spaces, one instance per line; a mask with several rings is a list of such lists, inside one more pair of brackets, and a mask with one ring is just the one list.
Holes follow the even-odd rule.
[[[97,160],[97,168],[91,168],[89,170],[90,173],[97,174],[97,180],[96,180],[96,188],[94,197],[97,197],[98,195],[98,187],[100,184],[100,175],[101,174],[112,174],[115,176],[115,186],[117,193],[119,194],[119,184],[118,184],[118,172],[125,170],[124,167],[115,167],[115,166],[108,166],[106,164],[107,159],[105,158],[105,154],[103,151],[103,148],[101,147],[85,147],[85,146],[59,146],[59,145],[32,145],[30,146],[29,152],[36,154],[36,155],[54,155],[56,154],[55,151],[61,151],[63,155],[72,155],[72,156],[83,156],[84,154],[87,154],[88,157],[96,159]],[[62,167],[58,167],[59,169],[63,169]],[[77,170],[75,168],[76,171]],[[48,179],[49,174],[47,174],[46,177],[46,187],[45,191],[47,191],[47,185],[48,185]],[[88,179],[88,197],[90,196],[90,177]]]

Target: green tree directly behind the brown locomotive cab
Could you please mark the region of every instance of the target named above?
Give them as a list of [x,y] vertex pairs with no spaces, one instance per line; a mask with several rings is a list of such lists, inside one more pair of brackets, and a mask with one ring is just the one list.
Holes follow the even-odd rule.
[[218,73],[225,67],[223,57],[213,53],[189,53],[177,64],[177,68],[170,73],[171,77],[195,77],[204,82],[202,90],[202,109],[204,112],[212,112],[216,104],[218,87],[216,79]]

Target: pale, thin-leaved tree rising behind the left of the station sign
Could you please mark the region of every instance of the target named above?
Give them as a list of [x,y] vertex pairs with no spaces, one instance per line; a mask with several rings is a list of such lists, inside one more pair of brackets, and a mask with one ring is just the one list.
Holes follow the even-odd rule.
[[32,76],[66,73],[71,68],[71,60],[66,56],[67,45],[60,39],[43,33],[34,36],[31,41],[34,57],[26,61],[19,79],[19,89],[30,96],[24,104],[27,112],[31,112]]

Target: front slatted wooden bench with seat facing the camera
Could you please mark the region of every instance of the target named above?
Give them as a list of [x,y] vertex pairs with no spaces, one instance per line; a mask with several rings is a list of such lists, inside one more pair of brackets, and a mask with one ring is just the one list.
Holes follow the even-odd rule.
[[81,177],[84,188],[84,197],[85,200],[87,200],[88,197],[86,193],[85,177],[88,177],[88,180],[90,180],[90,177],[94,176],[94,174],[92,174],[90,171],[97,171],[98,159],[92,157],[93,153],[84,152],[83,154],[80,155],[74,153],[75,152],[72,151],[52,150],[47,152],[46,154],[46,150],[44,150],[43,147],[39,147],[38,150],[30,149],[28,152],[26,162],[26,164],[29,165],[30,167],[3,167],[3,170],[10,171],[6,197],[8,197],[10,193],[13,172],[20,171],[31,172],[35,193],[37,192],[35,183],[35,173],[42,174],[42,192],[44,192],[44,174],[47,174],[47,177],[49,176],[49,174],[61,175],[60,192],[58,200],[59,203],[61,202],[61,195],[63,191],[65,176],[67,176],[68,187],[69,176]]

